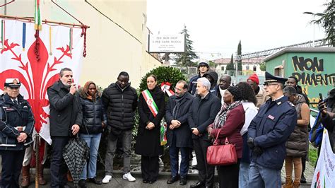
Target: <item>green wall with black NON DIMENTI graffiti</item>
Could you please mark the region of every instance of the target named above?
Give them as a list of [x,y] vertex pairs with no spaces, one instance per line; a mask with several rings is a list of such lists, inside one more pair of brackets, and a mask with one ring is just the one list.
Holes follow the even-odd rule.
[[[319,102],[319,93],[327,97],[334,88],[335,53],[326,52],[286,52],[266,61],[266,71],[274,74],[274,67],[285,60],[284,76],[295,76],[307,94],[310,102]],[[317,107],[312,105],[312,107]]]

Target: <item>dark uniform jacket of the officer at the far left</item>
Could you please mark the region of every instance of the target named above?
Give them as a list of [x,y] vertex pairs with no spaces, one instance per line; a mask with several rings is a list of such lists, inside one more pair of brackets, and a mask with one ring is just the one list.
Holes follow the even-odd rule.
[[[20,151],[33,143],[32,134],[34,129],[34,117],[31,107],[22,95],[18,95],[18,105],[14,105],[8,95],[0,98],[0,150]],[[27,134],[24,143],[18,143],[20,135],[17,127],[23,127]]]

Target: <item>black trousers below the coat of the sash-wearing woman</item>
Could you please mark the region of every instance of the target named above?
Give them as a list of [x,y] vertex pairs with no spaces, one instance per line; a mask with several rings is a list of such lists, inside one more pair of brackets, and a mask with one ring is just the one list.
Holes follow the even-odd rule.
[[142,171],[142,179],[146,181],[154,182],[158,179],[159,172],[159,158],[158,156],[141,157],[141,171]]

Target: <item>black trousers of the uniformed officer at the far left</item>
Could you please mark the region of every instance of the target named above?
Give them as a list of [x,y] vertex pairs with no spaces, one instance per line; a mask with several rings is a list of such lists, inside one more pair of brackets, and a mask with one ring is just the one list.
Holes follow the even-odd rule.
[[22,168],[25,150],[20,151],[1,151],[1,187],[20,187],[18,178]]

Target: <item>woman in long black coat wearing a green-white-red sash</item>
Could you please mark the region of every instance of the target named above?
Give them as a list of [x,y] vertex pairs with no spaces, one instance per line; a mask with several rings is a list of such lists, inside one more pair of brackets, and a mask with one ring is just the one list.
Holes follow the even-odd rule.
[[157,86],[154,75],[146,78],[148,89],[139,96],[139,129],[135,153],[141,156],[143,183],[152,184],[158,179],[158,156],[163,154],[160,146],[160,121],[165,114],[165,95]]

